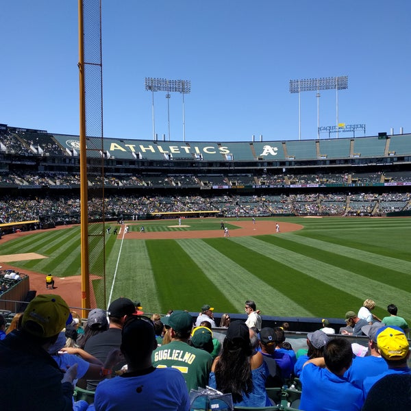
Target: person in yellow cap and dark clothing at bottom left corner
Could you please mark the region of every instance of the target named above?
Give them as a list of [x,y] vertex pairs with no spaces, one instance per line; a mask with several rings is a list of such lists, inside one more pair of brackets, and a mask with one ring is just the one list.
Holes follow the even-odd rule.
[[[38,295],[23,313],[21,328],[0,341],[0,396],[3,410],[72,410],[77,364],[63,373],[47,350],[71,323],[60,295]],[[18,395],[16,393],[18,382]]]

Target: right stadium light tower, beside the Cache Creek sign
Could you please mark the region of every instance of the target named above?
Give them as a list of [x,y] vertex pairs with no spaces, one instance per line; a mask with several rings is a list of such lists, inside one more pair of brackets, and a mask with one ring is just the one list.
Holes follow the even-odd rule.
[[345,90],[346,88],[348,88],[347,75],[339,77],[321,77],[319,79],[290,80],[290,92],[298,92],[299,140],[301,140],[301,91],[316,91],[317,137],[320,139],[320,90],[336,90],[336,126],[338,127],[338,90]]

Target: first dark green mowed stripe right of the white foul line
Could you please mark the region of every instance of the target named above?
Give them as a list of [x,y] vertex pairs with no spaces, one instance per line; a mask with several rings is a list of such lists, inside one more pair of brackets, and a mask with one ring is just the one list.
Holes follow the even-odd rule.
[[147,240],[147,251],[158,289],[162,312],[171,308],[199,311],[201,304],[213,301],[227,306],[225,293],[201,271],[194,260],[175,240]]

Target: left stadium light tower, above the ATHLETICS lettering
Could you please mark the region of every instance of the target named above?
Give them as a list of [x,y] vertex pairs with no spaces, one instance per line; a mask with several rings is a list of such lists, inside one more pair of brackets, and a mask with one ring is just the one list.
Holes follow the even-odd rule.
[[153,95],[153,138],[155,139],[155,128],[154,128],[154,92],[155,91],[165,91],[167,99],[167,112],[169,120],[169,140],[170,140],[170,92],[181,92],[183,95],[183,140],[186,141],[186,119],[184,113],[184,95],[191,91],[190,80],[169,80],[169,79],[158,79],[153,77],[145,78],[145,89],[151,91]]

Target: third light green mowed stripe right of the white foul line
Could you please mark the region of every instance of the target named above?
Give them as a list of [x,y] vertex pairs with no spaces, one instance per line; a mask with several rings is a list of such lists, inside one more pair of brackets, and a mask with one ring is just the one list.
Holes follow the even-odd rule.
[[[262,256],[271,258],[277,263],[282,263],[292,270],[305,273],[306,275],[319,280],[319,282],[323,282],[323,285],[320,286],[320,288],[331,284],[334,288],[340,290],[340,292],[347,294],[348,291],[352,296],[357,297],[357,299],[361,301],[360,306],[362,306],[362,301],[372,296],[373,299],[377,301],[377,305],[384,308],[386,308],[392,301],[397,301],[396,305],[402,307],[401,312],[408,317],[411,316],[411,308],[408,308],[408,300],[410,297],[409,292],[382,284],[381,282],[352,273],[351,271],[340,269],[340,267],[332,264],[321,262],[315,258],[315,255],[311,258],[303,256],[294,251],[269,244],[258,238],[238,237],[232,238],[232,241],[239,245],[243,245],[244,247],[256,250],[256,252],[260,253]],[[320,252],[320,250],[317,251],[317,253]],[[314,292],[315,286],[316,285],[313,284],[308,290],[302,289],[302,294],[307,297],[311,292]],[[318,301],[323,301],[325,298],[323,296],[325,296],[326,292],[327,290],[320,292],[322,297],[319,296]],[[335,290],[332,299],[334,299],[335,302]],[[349,303],[347,303],[347,306],[349,306]],[[342,314],[343,313],[340,313],[340,315]]]

